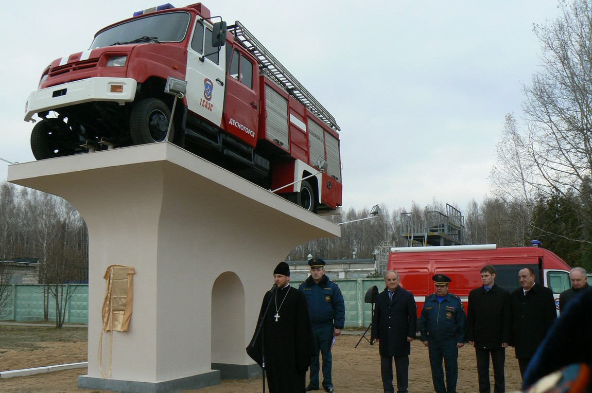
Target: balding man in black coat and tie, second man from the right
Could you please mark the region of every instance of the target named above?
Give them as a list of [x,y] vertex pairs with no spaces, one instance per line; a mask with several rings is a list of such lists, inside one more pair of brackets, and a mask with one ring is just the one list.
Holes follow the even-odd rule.
[[535,283],[532,269],[521,269],[518,279],[522,288],[510,294],[510,345],[516,350],[520,375],[524,376],[530,359],[555,322],[557,313],[553,292]]

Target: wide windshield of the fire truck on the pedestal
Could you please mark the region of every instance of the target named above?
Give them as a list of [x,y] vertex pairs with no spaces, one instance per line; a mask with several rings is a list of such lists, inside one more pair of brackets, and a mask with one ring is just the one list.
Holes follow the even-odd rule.
[[[137,42],[179,42],[185,38],[191,15],[188,12],[165,12],[137,18],[97,34],[90,49]],[[150,40],[142,40],[149,37]]]

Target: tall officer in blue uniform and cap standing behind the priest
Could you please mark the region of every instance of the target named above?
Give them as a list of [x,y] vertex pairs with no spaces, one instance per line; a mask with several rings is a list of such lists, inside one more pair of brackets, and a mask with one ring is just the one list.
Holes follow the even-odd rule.
[[313,329],[314,357],[310,365],[310,382],[306,391],[318,390],[318,371],[320,361],[318,352],[323,356],[323,389],[333,392],[331,368],[333,357],[331,346],[333,337],[339,336],[345,324],[345,302],[339,286],[325,274],[325,261],[313,258],[308,261],[310,276],[300,284],[308,303],[308,317]]

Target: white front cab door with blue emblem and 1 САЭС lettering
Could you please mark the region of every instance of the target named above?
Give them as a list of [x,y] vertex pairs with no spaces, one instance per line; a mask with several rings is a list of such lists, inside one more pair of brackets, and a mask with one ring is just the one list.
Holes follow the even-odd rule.
[[212,26],[198,20],[187,50],[187,107],[221,126],[224,110],[226,51],[212,46]]

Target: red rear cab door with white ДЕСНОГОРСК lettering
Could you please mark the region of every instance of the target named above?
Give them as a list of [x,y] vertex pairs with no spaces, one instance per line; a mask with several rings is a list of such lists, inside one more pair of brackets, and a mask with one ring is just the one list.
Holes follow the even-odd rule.
[[257,63],[250,53],[238,46],[231,51],[226,79],[224,128],[252,147],[257,144],[259,120],[258,71]]

